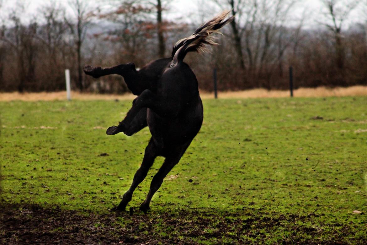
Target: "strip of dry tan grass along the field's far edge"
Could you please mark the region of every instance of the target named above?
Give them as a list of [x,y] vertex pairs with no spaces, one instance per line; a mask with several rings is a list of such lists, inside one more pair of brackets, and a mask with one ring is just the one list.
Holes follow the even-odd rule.
[[[200,92],[201,98],[214,98],[214,93]],[[326,87],[300,88],[294,90],[294,97],[330,97],[330,96],[367,96],[367,86],[336,87],[329,89]],[[219,92],[218,98],[277,98],[289,97],[290,93],[286,90],[266,90],[251,89],[244,91]],[[132,100],[133,94],[90,94],[72,92],[73,100]],[[0,93],[0,101],[39,101],[39,100],[66,100],[66,92],[41,92],[41,93]]]

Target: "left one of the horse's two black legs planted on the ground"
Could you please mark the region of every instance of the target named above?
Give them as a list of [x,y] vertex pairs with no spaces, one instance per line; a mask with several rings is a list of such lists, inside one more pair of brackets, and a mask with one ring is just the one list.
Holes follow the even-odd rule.
[[145,179],[146,174],[148,173],[149,168],[153,165],[154,159],[157,156],[157,149],[152,139],[150,139],[148,146],[145,148],[145,154],[143,158],[143,162],[140,168],[137,170],[134,176],[134,180],[130,186],[130,189],[123,195],[123,198],[115,209],[123,211],[125,210],[127,203],[130,202],[132,193],[135,188]]

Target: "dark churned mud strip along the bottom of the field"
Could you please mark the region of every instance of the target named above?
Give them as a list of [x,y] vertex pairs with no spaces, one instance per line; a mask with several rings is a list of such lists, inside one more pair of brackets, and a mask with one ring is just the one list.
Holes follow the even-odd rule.
[[[197,244],[209,239],[218,244],[262,244],[277,227],[316,216],[276,217],[265,213],[257,217],[247,211],[218,215],[215,210],[196,209],[148,215],[138,210],[97,214],[11,203],[0,204],[0,209],[0,244]],[[348,227],[339,228],[344,234],[350,232]],[[330,240],[320,241],[317,237],[323,235],[322,231],[313,227],[290,226],[286,230],[290,237],[280,238],[277,243],[335,244],[340,235],[329,234]]]

